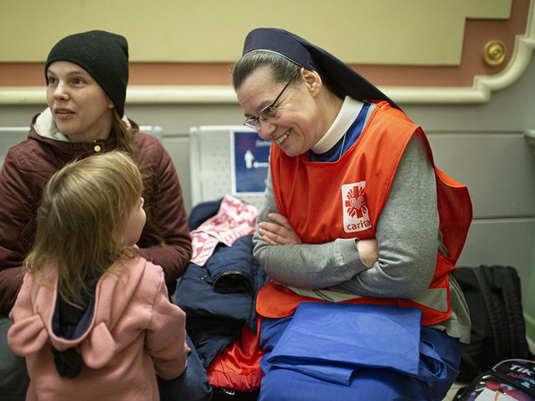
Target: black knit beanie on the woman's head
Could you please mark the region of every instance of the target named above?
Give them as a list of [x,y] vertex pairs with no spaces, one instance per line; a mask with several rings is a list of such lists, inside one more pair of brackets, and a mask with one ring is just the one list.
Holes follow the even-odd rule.
[[110,96],[122,118],[128,85],[128,42],[125,37],[91,30],[64,37],[48,54],[46,71],[53,61],[69,61],[86,70]]

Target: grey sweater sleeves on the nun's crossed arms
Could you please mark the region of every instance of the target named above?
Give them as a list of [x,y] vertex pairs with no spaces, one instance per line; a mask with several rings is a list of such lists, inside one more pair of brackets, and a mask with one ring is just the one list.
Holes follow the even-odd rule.
[[[270,176],[258,221],[268,220],[276,202]],[[324,244],[271,246],[258,231],[254,256],[277,282],[304,289],[337,290],[375,297],[415,298],[432,281],[438,249],[438,210],[434,169],[424,143],[413,136],[394,176],[376,225],[379,260],[367,268],[354,239]]]

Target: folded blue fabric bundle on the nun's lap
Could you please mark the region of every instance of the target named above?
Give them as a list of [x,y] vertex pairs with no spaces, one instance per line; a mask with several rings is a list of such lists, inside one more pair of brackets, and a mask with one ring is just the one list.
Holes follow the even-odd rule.
[[417,374],[421,316],[409,307],[301,303],[268,360],[344,385],[362,366]]

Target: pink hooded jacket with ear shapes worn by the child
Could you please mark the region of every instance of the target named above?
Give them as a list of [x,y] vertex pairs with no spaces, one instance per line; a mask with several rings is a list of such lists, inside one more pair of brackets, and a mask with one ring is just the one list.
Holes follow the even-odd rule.
[[[84,333],[65,340],[53,333],[56,266],[45,281],[25,274],[12,308],[12,350],[26,357],[29,400],[158,400],[157,373],[170,380],[185,370],[185,313],[169,302],[163,271],[144,258],[124,258],[95,289],[93,318]],[[75,379],[61,377],[52,347],[75,348],[84,366]]]

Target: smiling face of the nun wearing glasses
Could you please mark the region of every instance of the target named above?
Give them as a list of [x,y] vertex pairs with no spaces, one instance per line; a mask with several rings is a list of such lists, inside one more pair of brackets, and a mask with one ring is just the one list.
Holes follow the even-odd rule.
[[[271,71],[265,68],[245,78],[236,89],[245,118],[258,117],[259,111],[276,99],[285,84],[276,82]],[[276,143],[288,156],[309,151],[330,126],[321,108],[321,91],[321,78],[317,73],[302,69],[300,77],[276,102],[275,118],[261,122],[259,136]]]

